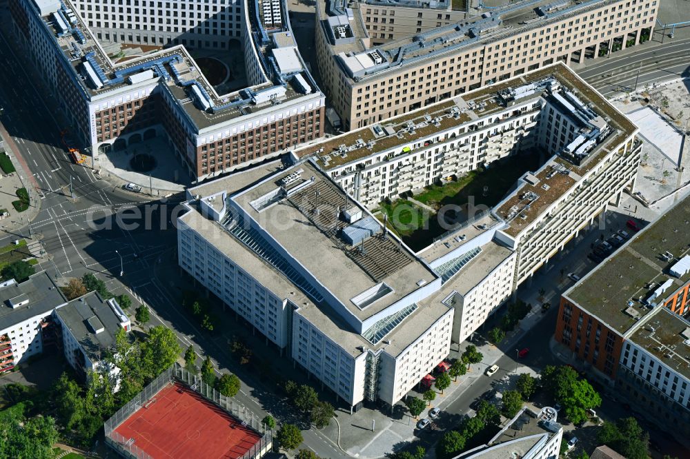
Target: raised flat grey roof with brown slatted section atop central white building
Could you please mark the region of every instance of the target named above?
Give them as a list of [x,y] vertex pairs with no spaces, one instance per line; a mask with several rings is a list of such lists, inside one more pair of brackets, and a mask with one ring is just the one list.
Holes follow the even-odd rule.
[[[279,192],[283,179],[290,174],[299,176],[293,181],[294,187],[286,198],[275,196],[273,201],[270,196]],[[269,198],[270,202],[266,201]],[[391,232],[384,234],[375,218],[370,218],[366,210],[310,162],[270,176],[259,185],[236,194],[232,200],[250,218],[260,222],[268,236],[284,247],[359,320],[373,316],[436,278],[399,239]],[[337,215],[338,210],[341,216]],[[359,212],[362,218],[350,225],[342,219],[345,211],[349,214]],[[359,224],[367,236],[362,242],[348,242],[344,234]],[[323,263],[324,259],[329,263]],[[373,288],[381,289],[380,296],[373,298],[385,300],[374,300],[371,304],[362,300],[360,303],[359,296]]]

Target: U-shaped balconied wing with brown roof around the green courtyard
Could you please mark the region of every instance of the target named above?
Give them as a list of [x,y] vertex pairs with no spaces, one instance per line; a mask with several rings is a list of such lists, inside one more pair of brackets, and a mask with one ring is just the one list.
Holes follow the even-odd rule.
[[524,150],[545,152],[544,165],[492,210],[504,223],[494,229],[496,240],[516,252],[515,289],[633,187],[637,132],[558,63],[294,153],[314,156],[348,194],[373,208]]

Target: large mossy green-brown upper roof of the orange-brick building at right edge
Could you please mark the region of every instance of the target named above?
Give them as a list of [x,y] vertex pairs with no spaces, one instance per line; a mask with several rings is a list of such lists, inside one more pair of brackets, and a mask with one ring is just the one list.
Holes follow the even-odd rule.
[[[690,252],[687,234],[690,234],[690,196],[634,234],[565,292],[564,298],[624,334],[652,311],[647,303],[662,305],[666,298],[690,282],[690,274],[681,278],[668,274],[669,268]],[[666,252],[673,258],[669,259]],[[662,294],[648,302],[650,295],[669,280],[671,284]]]

